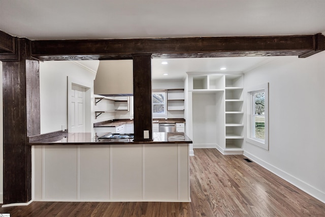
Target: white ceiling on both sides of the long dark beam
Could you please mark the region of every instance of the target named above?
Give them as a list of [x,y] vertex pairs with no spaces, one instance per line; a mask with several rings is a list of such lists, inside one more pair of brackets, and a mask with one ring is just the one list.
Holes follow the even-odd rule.
[[[0,30],[30,40],[310,35],[325,0],[0,0]],[[243,72],[272,57],[153,59],[153,79]],[[169,76],[163,76],[166,73]]]

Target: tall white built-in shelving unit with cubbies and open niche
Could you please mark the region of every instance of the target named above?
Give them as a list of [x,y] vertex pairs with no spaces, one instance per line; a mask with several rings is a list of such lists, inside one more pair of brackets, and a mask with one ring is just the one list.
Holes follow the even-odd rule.
[[[198,117],[207,118],[209,123],[209,133],[206,135],[215,134],[216,139],[212,143],[211,138],[206,141],[207,144],[197,144],[198,147],[216,147],[224,154],[242,154],[243,144],[244,144],[244,77],[242,73],[232,73],[232,74],[196,74],[188,73],[188,119],[189,127],[193,125],[200,124]],[[215,97],[210,97],[213,99],[214,105],[211,102],[192,102],[192,96],[201,94],[211,95],[214,94]],[[202,97],[204,98],[204,97]],[[202,103],[202,112],[204,107],[213,106],[215,111],[211,114],[192,114],[192,107],[197,106],[197,104]],[[194,105],[193,105],[194,104]],[[194,118],[195,116],[195,118]],[[209,117],[211,118],[209,119]],[[212,126],[211,122],[215,121]],[[202,123],[201,123],[202,124]],[[196,128],[194,126],[194,128]],[[194,129],[193,128],[193,129]],[[196,138],[201,136],[201,141],[204,142],[202,132],[198,135],[196,130],[189,130],[189,136],[193,138],[193,146],[196,146]],[[208,137],[207,136],[207,137]]]

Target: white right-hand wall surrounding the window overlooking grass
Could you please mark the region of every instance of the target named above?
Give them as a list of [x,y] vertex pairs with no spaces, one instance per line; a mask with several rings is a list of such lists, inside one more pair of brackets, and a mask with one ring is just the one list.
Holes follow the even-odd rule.
[[244,154],[325,202],[325,52],[275,57],[245,74],[245,88],[266,82],[269,150],[246,142]]

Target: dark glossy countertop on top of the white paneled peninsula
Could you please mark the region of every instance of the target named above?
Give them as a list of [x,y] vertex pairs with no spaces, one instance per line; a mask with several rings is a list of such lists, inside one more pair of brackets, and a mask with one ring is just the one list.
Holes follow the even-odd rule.
[[106,133],[67,133],[42,140],[31,141],[29,145],[112,145],[112,144],[160,144],[192,143],[184,133],[153,133],[153,141],[136,141],[133,139],[101,139]]

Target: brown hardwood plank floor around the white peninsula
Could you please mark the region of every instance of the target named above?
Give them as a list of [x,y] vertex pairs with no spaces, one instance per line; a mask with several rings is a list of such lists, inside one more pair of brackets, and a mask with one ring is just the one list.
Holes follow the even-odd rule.
[[191,203],[32,202],[0,208],[15,216],[325,216],[325,204],[245,157],[194,149]]

